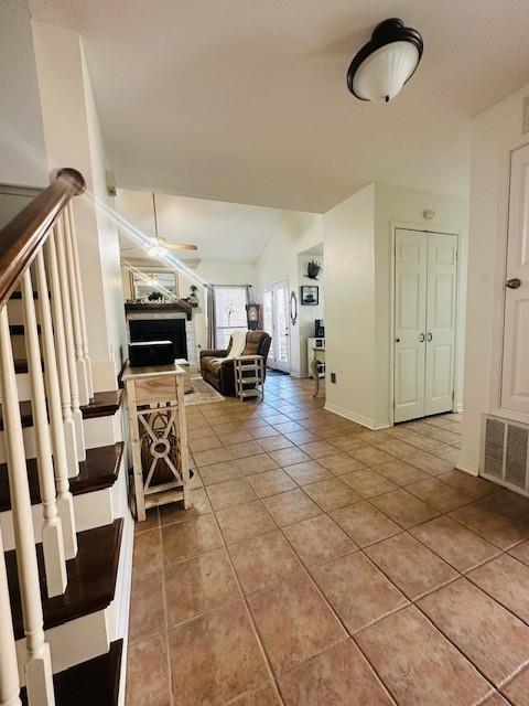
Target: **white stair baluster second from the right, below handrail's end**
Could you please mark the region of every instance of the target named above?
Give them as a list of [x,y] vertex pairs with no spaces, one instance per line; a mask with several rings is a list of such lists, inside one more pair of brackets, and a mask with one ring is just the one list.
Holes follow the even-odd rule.
[[68,274],[66,269],[66,253],[64,247],[64,212],[55,228],[55,247],[57,252],[58,281],[61,282],[61,299],[63,302],[64,334],[66,339],[66,359],[68,361],[69,393],[72,396],[72,414],[74,415],[75,436],[77,439],[77,458],[86,459],[85,431],[79,402],[79,383],[75,364],[74,330],[72,325],[72,302],[69,300]]

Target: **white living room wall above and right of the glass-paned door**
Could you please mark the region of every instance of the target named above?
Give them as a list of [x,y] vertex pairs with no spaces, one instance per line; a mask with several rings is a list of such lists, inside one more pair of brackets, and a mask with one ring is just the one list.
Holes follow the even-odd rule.
[[[287,280],[289,289],[296,292],[300,300],[300,270],[298,255],[323,242],[323,216],[317,213],[283,211],[276,233],[266,244],[256,263],[258,289],[256,300],[262,301],[262,290],[268,285]],[[298,306],[300,313],[301,307]],[[301,360],[304,357],[300,341],[299,322],[290,329],[291,374],[302,375]],[[306,351],[306,343],[305,343]]]

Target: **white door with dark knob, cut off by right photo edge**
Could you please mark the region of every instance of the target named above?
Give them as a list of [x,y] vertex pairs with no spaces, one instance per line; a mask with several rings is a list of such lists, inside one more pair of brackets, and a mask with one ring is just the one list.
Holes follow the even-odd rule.
[[501,406],[529,414],[529,146],[512,152]]

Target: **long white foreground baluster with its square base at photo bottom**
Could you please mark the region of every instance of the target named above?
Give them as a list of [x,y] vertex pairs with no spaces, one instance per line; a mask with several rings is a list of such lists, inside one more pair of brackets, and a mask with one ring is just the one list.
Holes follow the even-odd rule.
[[24,665],[30,706],[53,706],[52,661],[45,642],[35,535],[31,515],[30,488],[20,419],[17,376],[6,306],[0,309],[0,386],[2,388],[3,434],[8,460],[11,511],[20,598],[24,622],[26,662]]

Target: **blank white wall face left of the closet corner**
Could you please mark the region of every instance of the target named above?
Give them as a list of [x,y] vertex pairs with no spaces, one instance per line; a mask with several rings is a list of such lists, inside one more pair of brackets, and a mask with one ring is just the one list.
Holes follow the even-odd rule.
[[[326,409],[367,426],[376,416],[375,185],[324,215]],[[331,383],[336,374],[336,384]]]

